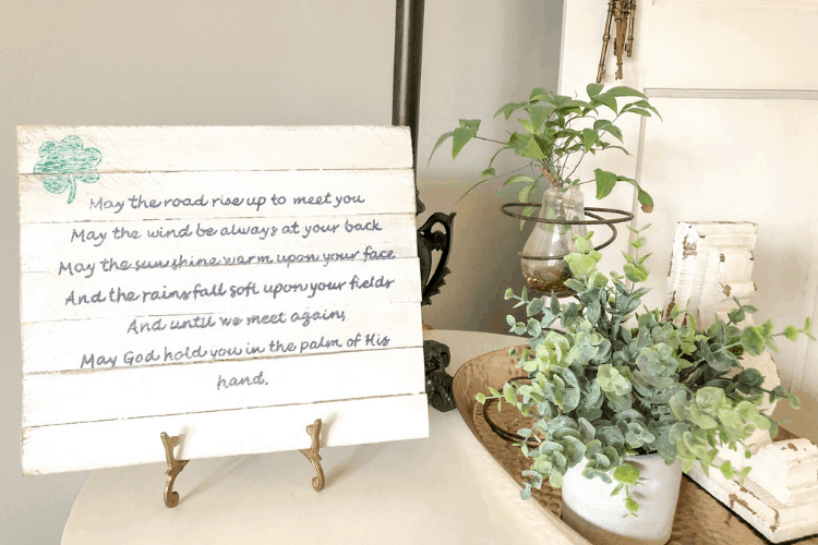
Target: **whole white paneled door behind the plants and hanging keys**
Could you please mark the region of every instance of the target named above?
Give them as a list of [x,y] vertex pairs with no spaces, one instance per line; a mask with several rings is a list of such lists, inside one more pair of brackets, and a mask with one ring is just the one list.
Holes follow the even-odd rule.
[[[599,2],[566,0],[563,94],[581,94],[596,78],[604,10]],[[623,81],[613,78],[609,47],[603,83],[642,89],[663,117],[624,128],[635,154],[615,165],[655,202],[651,215],[625,197],[614,202],[633,209],[636,226],[652,223],[642,250],[653,252],[649,307],[663,302],[678,221],[753,221],[758,316],[778,328],[801,327],[805,316],[818,320],[815,28],[818,1],[654,0],[638,5],[635,52],[625,59]],[[594,166],[587,167],[588,178]],[[616,247],[625,249],[625,238],[621,233]],[[604,252],[603,270],[619,267],[616,247]],[[803,403],[786,425],[818,441],[818,346],[803,338],[778,344],[782,380]]]

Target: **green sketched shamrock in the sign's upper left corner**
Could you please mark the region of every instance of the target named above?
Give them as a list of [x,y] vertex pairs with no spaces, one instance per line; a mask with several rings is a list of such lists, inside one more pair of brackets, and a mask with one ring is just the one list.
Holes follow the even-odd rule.
[[35,174],[50,175],[43,180],[46,191],[58,194],[69,190],[69,204],[76,196],[76,181],[96,183],[99,173],[94,168],[103,160],[99,149],[83,147],[80,136],[65,136],[62,142],[46,142],[39,148],[40,160]]

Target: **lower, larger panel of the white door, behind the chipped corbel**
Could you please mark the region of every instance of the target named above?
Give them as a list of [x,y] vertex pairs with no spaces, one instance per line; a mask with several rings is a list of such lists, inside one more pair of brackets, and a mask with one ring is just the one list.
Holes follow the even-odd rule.
[[[803,324],[818,184],[818,100],[653,98],[663,123],[646,128],[641,182],[657,203],[645,253],[651,269],[643,301],[664,299],[671,242],[678,221],[758,223],[753,278],[759,316],[779,327]],[[708,128],[702,130],[702,128]],[[683,304],[684,302],[678,301]],[[779,342],[790,382],[797,350]]]

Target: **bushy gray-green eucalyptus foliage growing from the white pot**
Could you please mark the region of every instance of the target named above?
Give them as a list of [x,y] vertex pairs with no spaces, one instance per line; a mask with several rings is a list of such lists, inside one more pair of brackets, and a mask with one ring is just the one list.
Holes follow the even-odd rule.
[[[780,332],[773,332],[770,320],[743,327],[756,308],[738,301],[726,323],[717,319],[707,329],[679,306],[669,315],[658,310],[637,314],[648,290],[636,284],[649,271],[648,256],[638,256],[645,238],[635,232],[630,244],[637,256],[625,254],[624,277],[613,271],[606,277],[597,269],[601,256],[590,243],[593,233],[575,235],[579,251],[565,261],[574,274],[566,286],[576,290],[576,302],[529,299],[525,288],[520,295],[512,289],[505,294],[517,301],[515,307],[526,307],[527,322],[512,315],[507,322],[513,332],[529,336],[530,349],[512,350],[528,379],[512,380],[502,391],[492,388],[491,395],[478,393],[477,399],[497,399],[497,409],[506,403],[534,417],[531,427],[518,432],[526,441],[517,446],[532,461],[524,472],[530,477],[524,499],[544,480],[560,487],[565,472],[584,463],[586,477],[616,481],[614,494],[624,491],[625,505],[636,514],[639,505],[630,487],[639,470],[626,457],[658,452],[667,464],[681,460],[685,472],[697,461],[708,471],[717,445],[734,450],[743,446],[749,458],[743,441],[754,431],[777,434],[777,423],[759,411],[765,396],[798,407],[797,398],[782,387],[765,389],[765,377],[745,368],[742,358],[758,355],[766,347],[777,350],[777,337],[814,339],[809,318],[801,329],[787,326]],[[625,278],[634,287],[626,286]],[[557,319],[565,331],[546,331]],[[727,479],[736,473],[743,481],[750,468],[734,472],[725,461],[720,470]]]

